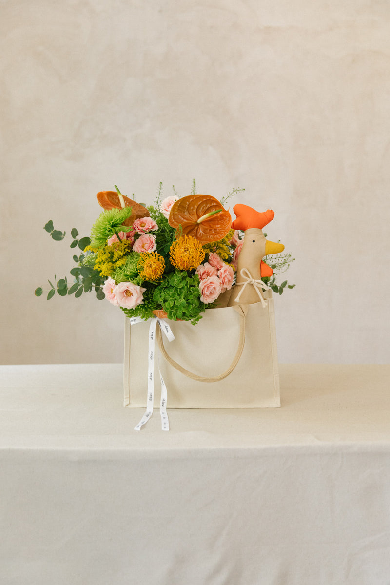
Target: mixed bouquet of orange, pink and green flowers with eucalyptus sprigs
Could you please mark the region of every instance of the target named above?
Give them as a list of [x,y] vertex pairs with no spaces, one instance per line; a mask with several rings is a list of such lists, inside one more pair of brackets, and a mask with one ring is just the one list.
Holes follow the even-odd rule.
[[[221,201],[196,193],[179,198],[175,188],[170,197],[162,197],[162,184],[154,205],[139,204],[115,191],[96,196],[103,211],[91,229],[91,236],[79,238],[71,230],[71,248],[75,266],[67,278],[49,281],[49,300],[57,294],[80,297],[95,291],[129,317],[149,319],[154,315],[182,319],[196,324],[211,307],[223,306],[224,295],[236,282],[237,262],[244,233],[232,228],[229,210],[224,208],[233,190]],[[63,240],[65,232],[54,229],[49,221],[44,229],[54,240]],[[293,288],[287,280],[277,284],[277,276],[294,260],[291,254],[266,256],[271,271],[262,276],[274,292]],[[36,296],[43,288],[35,290]]]

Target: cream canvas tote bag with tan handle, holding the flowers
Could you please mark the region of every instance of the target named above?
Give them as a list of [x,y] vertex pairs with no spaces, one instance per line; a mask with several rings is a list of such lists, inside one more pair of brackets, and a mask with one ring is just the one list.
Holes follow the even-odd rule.
[[[160,373],[171,408],[279,407],[274,301],[207,309],[198,324],[168,321],[171,342],[156,328],[154,380]],[[149,322],[125,321],[125,407],[145,407]],[[154,392],[154,406],[160,391]]]

